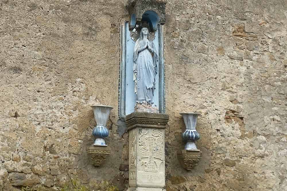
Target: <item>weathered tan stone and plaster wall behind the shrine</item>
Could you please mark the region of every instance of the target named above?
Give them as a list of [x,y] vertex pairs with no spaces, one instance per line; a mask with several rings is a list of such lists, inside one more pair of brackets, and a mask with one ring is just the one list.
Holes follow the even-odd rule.
[[[117,133],[126,1],[0,4],[0,190],[53,190],[67,172],[127,186],[128,135]],[[170,0],[166,14],[166,190],[287,190],[286,1]],[[115,108],[100,168],[85,151],[94,103]],[[187,172],[179,113],[195,110],[203,158]]]

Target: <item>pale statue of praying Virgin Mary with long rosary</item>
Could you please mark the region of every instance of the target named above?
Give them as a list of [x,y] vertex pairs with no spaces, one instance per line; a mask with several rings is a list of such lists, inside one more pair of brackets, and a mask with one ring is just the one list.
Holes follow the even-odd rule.
[[141,29],[133,49],[133,81],[136,102],[152,105],[156,85],[158,53],[150,38],[148,28]]

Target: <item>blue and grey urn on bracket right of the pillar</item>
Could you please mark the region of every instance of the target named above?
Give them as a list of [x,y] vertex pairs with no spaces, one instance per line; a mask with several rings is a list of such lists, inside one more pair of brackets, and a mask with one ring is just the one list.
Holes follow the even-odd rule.
[[185,131],[182,133],[183,140],[187,141],[185,150],[198,150],[195,142],[199,139],[199,133],[196,131],[197,117],[200,113],[180,113],[185,123]]

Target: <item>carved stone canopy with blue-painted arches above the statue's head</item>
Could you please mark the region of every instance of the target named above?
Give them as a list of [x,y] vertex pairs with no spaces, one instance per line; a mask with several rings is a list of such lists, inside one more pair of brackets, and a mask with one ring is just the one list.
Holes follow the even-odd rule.
[[150,29],[156,31],[158,23],[163,25],[166,21],[165,5],[165,0],[129,0],[129,29],[133,30],[136,25],[148,23]]

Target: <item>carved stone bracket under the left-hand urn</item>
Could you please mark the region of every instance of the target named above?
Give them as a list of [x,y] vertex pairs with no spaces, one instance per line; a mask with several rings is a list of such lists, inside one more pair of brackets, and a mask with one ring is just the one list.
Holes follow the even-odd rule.
[[87,149],[88,155],[90,155],[90,159],[92,160],[92,164],[94,166],[100,166],[104,160],[108,157],[110,154],[110,147],[106,146],[91,146]]

